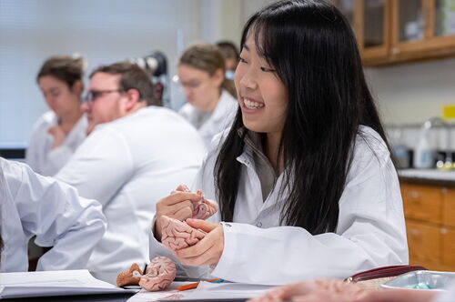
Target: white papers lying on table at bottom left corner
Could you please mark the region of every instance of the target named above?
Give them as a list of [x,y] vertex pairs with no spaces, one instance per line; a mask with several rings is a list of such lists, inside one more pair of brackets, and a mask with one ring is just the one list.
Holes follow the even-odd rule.
[[135,293],[92,277],[86,269],[0,273],[0,298]]

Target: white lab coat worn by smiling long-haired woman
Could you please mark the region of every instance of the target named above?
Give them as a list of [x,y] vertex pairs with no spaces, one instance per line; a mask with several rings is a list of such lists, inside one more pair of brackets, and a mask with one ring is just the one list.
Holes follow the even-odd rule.
[[[339,199],[339,225],[335,233],[317,236],[302,227],[279,225],[283,200],[278,198],[277,188],[282,175],[263,201],[252,150],[246,146],[238,156],[242,167],[234,223],[223,224],[224,250],[211,274],[236,282],[280,285],[318,277],[344,278],[373,267],[407,264],[397,173],[380,136],[366,126],[359,131],[367,142],[360,136],[356,139],[352,166]],[[216,140],[212,146],[215,149],[208,152],[194,188],[215,199]],[[219,215],[213,220],[219,221]],[[150,244],[151,251],[172,257],[152,236]],[[179,270],[202,275],[202,268],[179,266]]]

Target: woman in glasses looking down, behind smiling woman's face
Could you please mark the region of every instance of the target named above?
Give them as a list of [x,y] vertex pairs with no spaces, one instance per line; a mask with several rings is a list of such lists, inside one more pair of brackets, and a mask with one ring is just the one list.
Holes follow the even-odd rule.
[[178,113],[197,128],[206,146],[230,126],[238,108],[226,90],[225,71],[223,55],[216,45],[193,45],[178,63],[178,77],[187,98]]

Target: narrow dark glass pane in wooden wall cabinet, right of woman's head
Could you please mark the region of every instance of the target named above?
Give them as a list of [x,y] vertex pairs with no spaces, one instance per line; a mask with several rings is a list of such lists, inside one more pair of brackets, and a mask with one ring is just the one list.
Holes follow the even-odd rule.
[[363,48],[381,46],[384,41],[385,0],[365,0],[363,4]]

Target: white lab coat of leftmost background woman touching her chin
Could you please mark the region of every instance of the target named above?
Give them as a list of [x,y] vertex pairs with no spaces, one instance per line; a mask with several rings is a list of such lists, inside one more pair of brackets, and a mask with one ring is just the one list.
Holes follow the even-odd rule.
[[48,111],[35,123],[30,143],[25,152],[25,161],[36,173],[43,176],[55,176],[69,158],[73,156],[76,148],[86,138],[86,115],[81,116],[76,125],[66,135],[62,146],[51,150],[54,137],[47,131],[56,126],[58,117],[54,111]]

